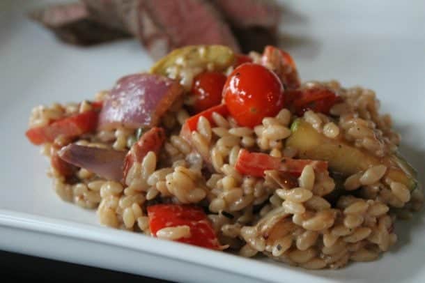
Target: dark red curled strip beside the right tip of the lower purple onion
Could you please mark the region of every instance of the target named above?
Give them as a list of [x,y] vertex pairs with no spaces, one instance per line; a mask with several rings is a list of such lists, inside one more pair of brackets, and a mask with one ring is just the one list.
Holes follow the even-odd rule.
[[124,181],[134,162],[141,162],[149,151],[153,151],[158,155],[164,142],[165,131],[163,128],[153,127],[141,135],[139,141],[134,143],[130,151],[125,155]]

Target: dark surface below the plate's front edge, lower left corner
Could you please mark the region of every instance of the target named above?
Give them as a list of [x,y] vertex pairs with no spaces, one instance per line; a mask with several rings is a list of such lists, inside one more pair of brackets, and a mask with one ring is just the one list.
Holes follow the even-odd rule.
[[[0,251],[1,282],[147,282],[167,283],[150,277],[120,273],[102,268],[31,257],[24,254]],[[7,278],[7,279],[6,279]],[[3,281],[5,280],[5,281]],[[36,281],[34,281],[36,280]]]

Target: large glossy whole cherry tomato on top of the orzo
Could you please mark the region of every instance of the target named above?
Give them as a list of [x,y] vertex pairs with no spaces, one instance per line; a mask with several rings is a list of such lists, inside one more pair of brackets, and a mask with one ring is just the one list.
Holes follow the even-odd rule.
[[254,127],[285,106],[279,77],[264,66],[245,63],[235,68],[224,84],[224,102],[239,125]]

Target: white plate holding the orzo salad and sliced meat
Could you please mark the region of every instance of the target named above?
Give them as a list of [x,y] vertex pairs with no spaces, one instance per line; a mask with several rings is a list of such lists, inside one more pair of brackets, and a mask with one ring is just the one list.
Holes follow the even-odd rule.
[[[301,2],[301,3],[300,3]],[[374,89],[425,166],[425,2],[286,1],[281,31],[304,79]],[[184,282],[425,282],[423,213],[398,224],[399,243],[373,263],[309,272],[100,227],[93,211],[56,197],[47,161],[24,137],[34,105],[79,101],[147,69],[139,43],[77,48],[26,20],[40,1],[0,3],[0,248]]]

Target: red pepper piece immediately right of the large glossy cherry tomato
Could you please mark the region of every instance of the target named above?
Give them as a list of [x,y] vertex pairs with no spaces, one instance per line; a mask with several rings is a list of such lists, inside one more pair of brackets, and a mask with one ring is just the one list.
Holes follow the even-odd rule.
[[288,91],[287,101],[295,114],[302,116],[307,110],[329,114],[331,107],[337,102],[338,96],[323,87]]

